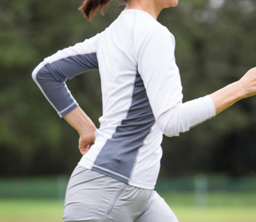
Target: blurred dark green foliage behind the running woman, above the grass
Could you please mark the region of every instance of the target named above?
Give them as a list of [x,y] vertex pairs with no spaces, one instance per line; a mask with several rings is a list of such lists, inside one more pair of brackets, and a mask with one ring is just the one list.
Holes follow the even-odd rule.
[[[113,1],[92,22],[77,11],[81,0],[0,2],[0,175],[70,174],[81,158],[78,134],[60,119],[31,78],[47,56],[108,27],[123,7]],[[238,81],[256,66],[253,0],[180,0],[158,21],[176,37],[184,102]],[[99,126],[98,70],[67,82]],[[160,176],[196,172],[250,176],[256,172],[256,97],[174,138],[164,138]]]

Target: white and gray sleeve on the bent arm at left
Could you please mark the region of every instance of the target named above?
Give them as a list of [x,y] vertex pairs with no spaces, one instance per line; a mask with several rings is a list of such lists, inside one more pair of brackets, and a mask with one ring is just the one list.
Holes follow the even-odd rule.
[[96,41],[100,34],[58,51],[46,58],[33,71],[32,77],[60,117],[78,106],[66,81],[98,68]]

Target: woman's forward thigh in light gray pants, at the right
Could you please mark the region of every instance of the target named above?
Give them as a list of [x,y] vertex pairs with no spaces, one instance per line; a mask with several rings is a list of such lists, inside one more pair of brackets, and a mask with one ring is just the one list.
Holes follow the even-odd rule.
[[134,222],[179,222],[163,198],[154,191],[150,205]]

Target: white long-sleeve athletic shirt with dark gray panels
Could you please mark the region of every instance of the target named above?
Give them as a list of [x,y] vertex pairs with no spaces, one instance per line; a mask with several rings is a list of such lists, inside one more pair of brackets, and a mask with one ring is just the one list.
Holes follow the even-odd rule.
[[40,63],[33,79],[65,116],[78,106],[66,80],[98,68],[103,115],[78,164],[132,186],[154,189],[162,136],[178,136],[216,115],[209,95],[182,103],[175,38],[145,11],[128,9],[103,32]]

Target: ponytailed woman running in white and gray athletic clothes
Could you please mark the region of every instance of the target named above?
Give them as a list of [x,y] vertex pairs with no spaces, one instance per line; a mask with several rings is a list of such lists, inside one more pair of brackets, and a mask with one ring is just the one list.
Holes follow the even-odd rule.
[[[87,0],[91,19],[109,0]],[[83,155],[69,181],[63,221],[172,221],[178,219],[154,191],[162,135],[180,132],[256,94],[256,68],[238,82],[187,103],[175,63],[174,36],[156,19],[178,0],[129,0],[96,36],[59,51],[33,71],[33,79],[61,117],[80,135]],[[99,68],[103,115],[97,130],[66,86]]]

